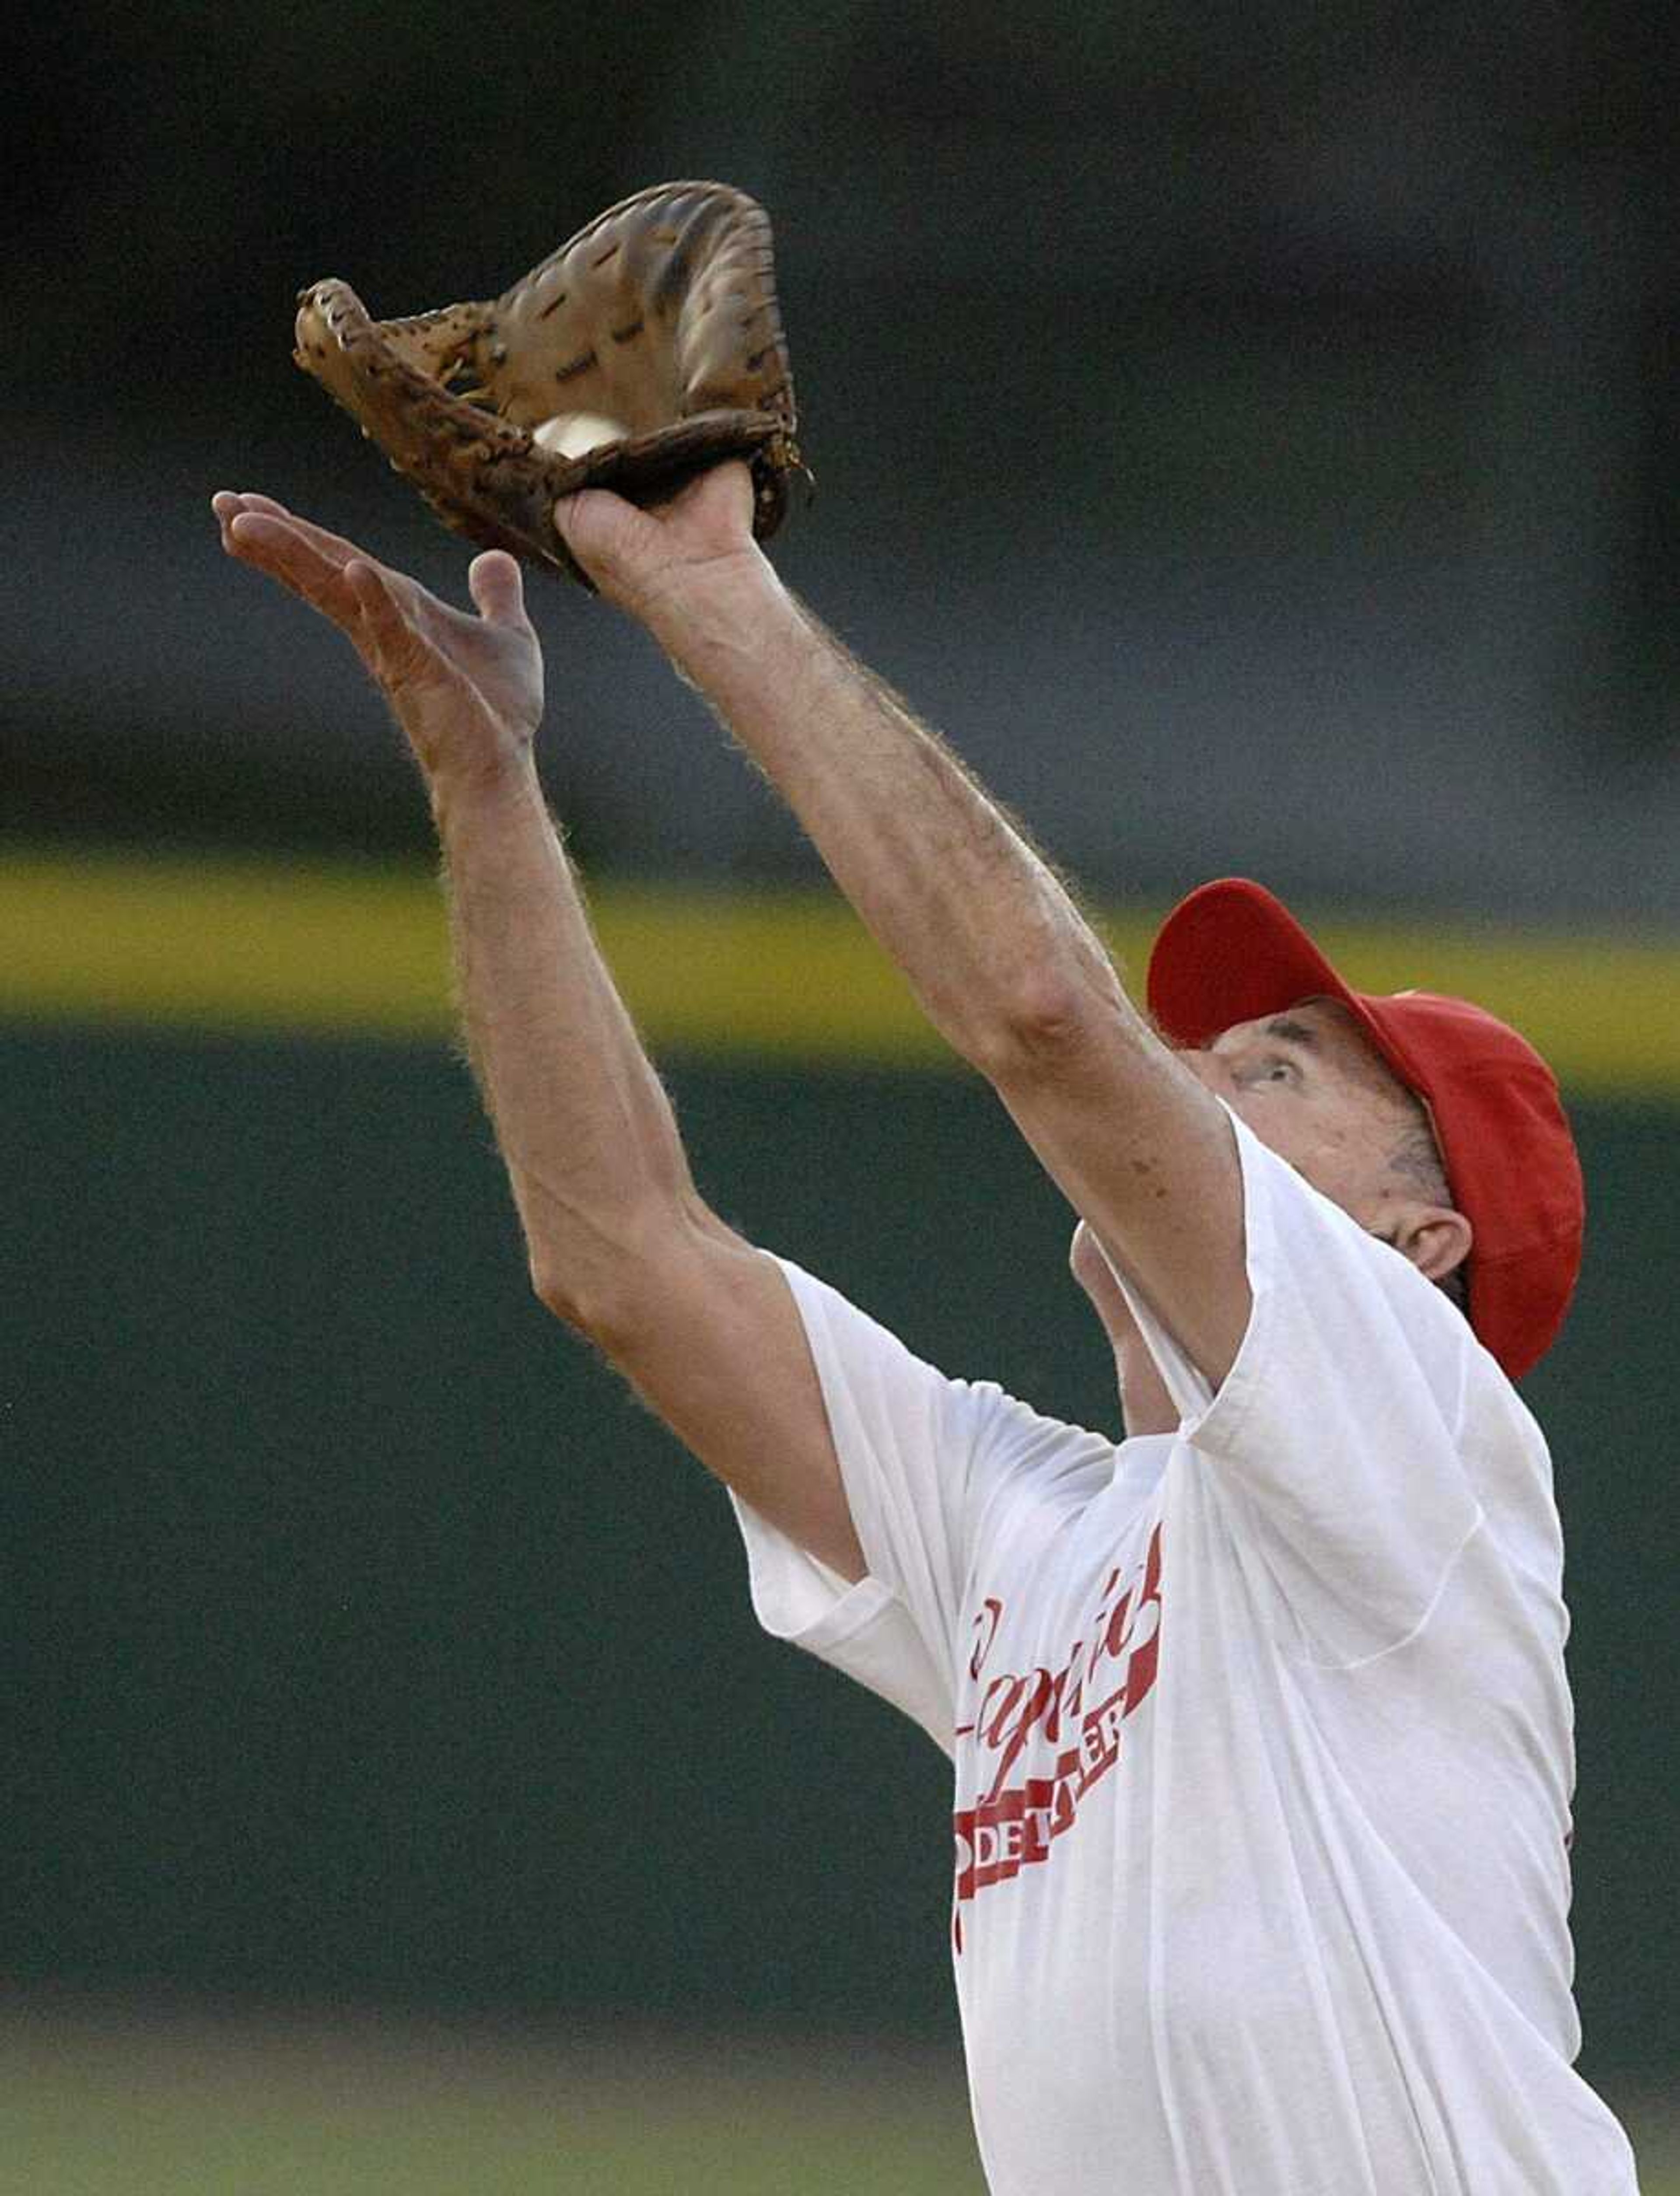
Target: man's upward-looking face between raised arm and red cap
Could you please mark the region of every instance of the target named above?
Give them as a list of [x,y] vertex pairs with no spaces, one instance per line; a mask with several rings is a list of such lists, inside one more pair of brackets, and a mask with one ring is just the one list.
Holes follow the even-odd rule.
[[1337,999],[1239,1021],[1179,1058],[1313,1188],[1373,1221],[1414,1100]]

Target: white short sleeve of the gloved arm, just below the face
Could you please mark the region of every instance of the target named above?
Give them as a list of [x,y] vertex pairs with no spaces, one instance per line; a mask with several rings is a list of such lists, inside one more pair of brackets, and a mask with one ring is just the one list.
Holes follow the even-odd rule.
[[1456,1307],[1232,1116],[1247,1331],[1217,1394],[1116,1267],[1274,1586],[1315,1645],[1377,1654],[1427,1618],[1482,1511],[1460,1427],[1471,1383],[1509,1386]]

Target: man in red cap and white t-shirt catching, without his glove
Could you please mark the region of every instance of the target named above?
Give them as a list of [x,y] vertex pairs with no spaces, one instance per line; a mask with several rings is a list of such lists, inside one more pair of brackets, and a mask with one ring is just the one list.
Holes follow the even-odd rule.
[[694,1190],[534,764],[516,562],[477,615],[261,496],[441,837],[531,1280],[733,1498],[758,1616],[953,1759],[953,1959],[999,2196],[1627,2196],[1577,2077],[1570,1702],[1511,1377],[1575,1282],[1553,1078],[1351,990],[1261,887],[1149,1012],[953,753],[788,595],[747,468],[556,525],[793,806],[1078,1214],[1127,1438],[947,1379]]

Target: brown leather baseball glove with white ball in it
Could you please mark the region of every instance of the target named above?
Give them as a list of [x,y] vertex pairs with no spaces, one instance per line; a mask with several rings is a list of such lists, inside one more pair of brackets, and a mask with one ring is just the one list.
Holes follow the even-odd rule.
[[312,283],[294,358],[457,534],[584,586],[556,496],[661,503],[744,457],[762,540],[804,470],[771,224],[723,182],[639,191],[477,305],[373,321],[349,283]]

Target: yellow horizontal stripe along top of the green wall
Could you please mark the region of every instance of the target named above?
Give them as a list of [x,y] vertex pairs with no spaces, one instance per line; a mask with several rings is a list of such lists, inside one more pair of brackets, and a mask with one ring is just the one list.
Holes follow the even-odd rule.
[[[830,892],[604,885],[593,909],[654,1050],[951,1061]],[[1105,916],[1133,988],[1160,914]],[[1313,929],[1366,990],[1419,984],[1504,1015],[1577,1091],[1680,1096],[1680,940],[1333,918]],[[439,889],[415,867],[0,856],[0,1015],[441,1039],[450,995]]]

